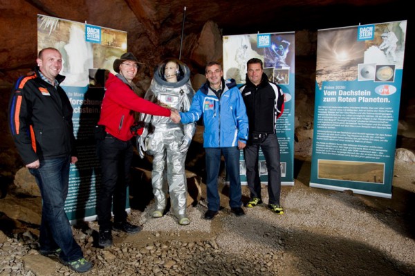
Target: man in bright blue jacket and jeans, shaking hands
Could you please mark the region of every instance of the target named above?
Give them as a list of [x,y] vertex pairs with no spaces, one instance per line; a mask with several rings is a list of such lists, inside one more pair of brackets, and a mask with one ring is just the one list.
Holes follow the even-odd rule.
[[241,181],[239,177],[239,149],[248,140],[248,117],[245,104],[234,80],[223,80],[221,64],[210,62],[205,68],[208,79],[194,95],[192,106],[180,112],[181,122],[196,122],[203,115],[205,131],[203,147],[206,154],[208,211],[205,219],[213,219],[219,211],[218,192],[221,154],[225,157],[226,173],[230,181],[229,205],[239,217],[241,208]]

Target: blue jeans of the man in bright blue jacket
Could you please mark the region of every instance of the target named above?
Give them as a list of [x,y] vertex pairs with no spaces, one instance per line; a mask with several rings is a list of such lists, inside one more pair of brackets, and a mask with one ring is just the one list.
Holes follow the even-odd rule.
[[221,198],[218,192],[218,176],[221,166],[221,154],[225,157],[226,174],[229,178],[229,206],[241,207],[242,191],[239,177],[239,149],[237,147],[206,147],[206,185],[208,209],[218,211]]

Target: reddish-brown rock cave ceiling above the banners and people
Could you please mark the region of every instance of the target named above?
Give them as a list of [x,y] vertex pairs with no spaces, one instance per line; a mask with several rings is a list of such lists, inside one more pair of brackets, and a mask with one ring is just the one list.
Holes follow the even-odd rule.
[[164,55],[169,45],[177,45],[180,40],[184,7],[187,39],[197,37],[207,21],[217,24],[222,35],[237,35],[315,31],[407,19],[408,47],[412,45],[408,6],[402,0],[2,0],[0,35],[7,37],[8,43],[0,46],[0,71],[7,75],[33,64],[39,14],[125,30],[133,53],[151,55],[154,49],[154,55]]

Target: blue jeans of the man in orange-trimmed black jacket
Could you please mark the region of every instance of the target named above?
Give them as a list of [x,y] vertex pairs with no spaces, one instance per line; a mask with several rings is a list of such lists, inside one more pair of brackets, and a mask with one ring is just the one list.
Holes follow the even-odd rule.
[[71,156],[40,160],[38,169],[29,169],[42,194],[42,221],[39,243],[41,250],[61,248],[60,259],[77,261],[83,257],[73,239],[71,224],[64,210],[68,195]]

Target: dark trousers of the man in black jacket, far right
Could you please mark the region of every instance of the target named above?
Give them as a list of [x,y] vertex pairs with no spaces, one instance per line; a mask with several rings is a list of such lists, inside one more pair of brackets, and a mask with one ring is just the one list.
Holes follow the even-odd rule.
[[249,145],[243,149],[246,163],[246,178],[250,190],[251,199],[257,197],[261,199],[261,181],[259,180],[258,153],[259,147],[266,160],[268,171],[268,196],[269,204],[279,205],[279,195],[281,193],[281,167],[279,167],[279,144],[275,134],[269,134],[264,142],[258,145]]

